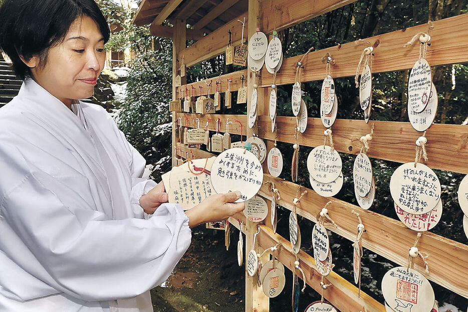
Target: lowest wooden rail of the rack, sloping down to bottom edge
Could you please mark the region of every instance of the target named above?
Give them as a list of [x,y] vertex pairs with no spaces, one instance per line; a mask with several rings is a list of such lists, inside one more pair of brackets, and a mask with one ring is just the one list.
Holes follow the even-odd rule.
[[[260,234],[257,236],[257,239],[262,248],[268,249],[280,243],[281,247],[279,252],[275,252],[274,256],[288,269],[293,270],[296,255],[291,249],[291,243],[281,235],[274,234],[273,230],[268,227],[264,225],[260,225],[259,227]],[[307,284],[314,288],[318,293],[322,293],[322,286],[320,285],[322,275],[317,272],[315,259],[302,250],[299,251],[298,258],[300,266],[304,271]],[[300,272],[298,272],[298,277],[302,279]],[[361,291],[361,297],[358,297],[358,288],[333,271],[324,277],[324,283],[332,284],[331,287],[323,292],[324,297],[339,311],[363,311],[362,306],[363,302],[365,302],[368,312],[385,312],[385,307],[364,291]],[[285,288],[283,291],[290,292],[291,289]]]

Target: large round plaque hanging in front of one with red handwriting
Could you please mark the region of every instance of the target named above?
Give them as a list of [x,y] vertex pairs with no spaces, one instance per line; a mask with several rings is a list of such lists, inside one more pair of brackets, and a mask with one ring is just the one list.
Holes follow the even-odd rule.
[[440,200],[440,182],[435,173],[423,164],[406,163],[398,167],[390,179],[393,201],[413,215],[434,209]]

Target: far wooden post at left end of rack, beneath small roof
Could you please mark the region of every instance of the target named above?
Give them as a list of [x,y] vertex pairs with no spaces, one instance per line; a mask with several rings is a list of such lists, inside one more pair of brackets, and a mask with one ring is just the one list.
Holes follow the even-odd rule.
[[[174,37],[172,39],[172,100],[176,100],[177,92],[175,87],[175,77],[178,73],[178,55],[179,52],[185,49],[186,45],[186,33],[187,27],[185,24],[185,20],[176,20],[174,26]],[[186,77],[182,77],[182,84],[186,84]],[[175,121],[176,121],[176,113],[172,112],[172,167],[176,166],[175,160],[175,150],[174,146],[176,145],[176,137],[175,137]]]

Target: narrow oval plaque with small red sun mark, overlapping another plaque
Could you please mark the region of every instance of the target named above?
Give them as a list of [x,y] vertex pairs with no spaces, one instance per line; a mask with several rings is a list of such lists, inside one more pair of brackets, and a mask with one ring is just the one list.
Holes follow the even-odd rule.
[[432,76],[429,63],[425,59],[414,63],[408,79],[408,107],[416,113],[424,110],[429,101]]

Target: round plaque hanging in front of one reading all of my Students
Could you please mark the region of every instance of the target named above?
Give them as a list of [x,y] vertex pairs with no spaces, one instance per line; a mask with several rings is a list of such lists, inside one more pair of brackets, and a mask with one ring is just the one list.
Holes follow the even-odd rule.
[[315,147],[307,157],[309,174],[321,183],[335,181],[341,174],[342,166],[340,154],[328,145]]

